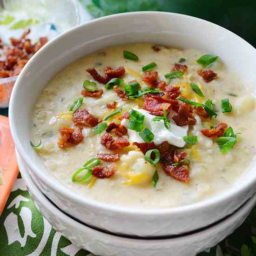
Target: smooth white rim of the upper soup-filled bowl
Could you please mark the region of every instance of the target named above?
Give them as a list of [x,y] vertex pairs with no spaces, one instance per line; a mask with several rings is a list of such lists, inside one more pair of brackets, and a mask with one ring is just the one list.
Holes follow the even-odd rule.
[[91,24],[94,23],[99,23],[101,24],[104,21],[114,19],[118,17],[119,19],[123,16],[130,16],[131,18],[133,16],[142,16],[142,15],[168,15],[169,18],[175,16],[175,17],[181,17],[181,19],[184,19],[186,21],[189,20],[197,20],[198,22],[205,23],[208,26],[216,27],[218,30],[222,30],[225,32],[225,34],[229,34],[230,36],[235,36],[237,40],[240,40],[243,45],[247,46],[250,51],[255,51],[256,49],[250,45],[247,41],[242,39],[240,36],[236,35],[235,33],[229,31],[226,28],[223,28],[219,25],[216,25],[212,22],[209,22],[207,20],[202,20],[193,16],[185,15],[185,14],[179,14],[179,13],[168,13],[168,12],[157,12],[157,11],[146,11],[146,12],[129,12],[129,13],[118,13],[114,15],[109,15],[105,17],[101,17],[98,19],[91,20],[87,23],[81,24],[77,27],[74,27],[70,30],[67,30],[63,34],[60,34],[50,42],[48,42],[44,47],[42,47],[34,56],[28,61],[27,65],[23,68],[21,71],[15,85],[13,88],[13,92],[11,95],[10,99],[10,105],[9,105],[9,121],[10,121],[10,128],[11,128],[11,134],[13,136],[13,141],[15,142],[15,147],[17,148],[18,152],[22,152],[21,158],[26,162],[27,166],[34,172],[36,173],[37,176],[40,177],[41,180],[43,180],[51,189],[56,191],[57,193],[61,194],[62,196],[65,196],[68,200],[72,200],[73,202],[78,202],[80,205],[82,204],[83,206],[90,206],[96,209],[101,209],[101,210],[107,210],[110,212],[115,212],[119,214],[131,214],[134,216],[163,216],[163,215],[179,215],[179,214],[186,214],[189,212],[194,212],[198,211],[199,209],[205,209],[205,208],[210,208],[213,207],[216,204],[220,204],[221,202],[224,202],[228,198],[235,198],[237,195],[241,194],[242,192],[245,192],[246,189],[249,187],[253,186],[253,184],[256,183],[256,176],[254,179],[250,179],[248,182],[244,182],[242,186],[239,186],[238,189],[230,189],[229,192],[224,192],[219,195],[214,196],[213,198],[209,198],[207,200],[201,201],[201,202],[195,202],[189,205],[184,205],[184,206],[179,206],[179,207],[174,207],[174,208],[158,208],[158,209],[138,209],[138,208],[126,208],[122,206],[115,206],[115,205],[109,205],[105,202],[98,202],[90,199],[86,199],[84,197],[79,197],[79,194],[76,194],[72,189],[67,189],[67,186],[62,183],[61,181],[59,182],[59,185],[56,186],[56,182],[54,182],[53,179],[49,179],[44,172],[41,172],[40,169],[37,167],[37,165],[32,162],[29,158],[29,154],[26,152],[25,148],[23,148],[23,143],[22,141],[18,138],[17,134],[17,128],[14,126],[14,117],[15,112],[14,112],[14,105],[15,105],[15,98],[18,97],[17,90],[18,86],[21,83],[21,81],[26,77],[27,70],[29,70],[30,66],[32,65],[34,61],[36,61],[38,58],[41,58],[44,54],[45,51],[47,51],[47,48],[50,45],[58,44],[61,42],[63,38],[68,36],[68,34],[72,34],[72,32],[76,30],[80,30],[83,27],[88,27]]

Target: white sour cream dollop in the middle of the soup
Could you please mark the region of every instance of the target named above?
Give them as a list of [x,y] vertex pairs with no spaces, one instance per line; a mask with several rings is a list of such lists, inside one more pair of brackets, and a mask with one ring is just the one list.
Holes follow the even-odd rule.
[[[153,142],[155,142],[156,145],[161,144],[163,141],[168,141],[169,144],[174,145],[176,147],[184,147],[186,142],[183,141],[183,136],[187,136],[189,126],[177,126],[172,120],[170,121],[170,128],[167,129],[164,126],[163,120],[161,121],[153,121],[153,118],[155,115],[150,115],[148,111],[144,109],[137,109],[134,108],[134,110],[140,112],[142,115],[145,116],[144,119],[144,128],[147,127],[150,129],[150,131],[155,135],[155,138]],[[128,126],[128,119],[123,119],[121,121],[121,124],[125,127]],[[138,132],[134,130],[128,129],[128,136],[129,141],[131,143],[133,142],[145,142],[142,140],[141,136]]]

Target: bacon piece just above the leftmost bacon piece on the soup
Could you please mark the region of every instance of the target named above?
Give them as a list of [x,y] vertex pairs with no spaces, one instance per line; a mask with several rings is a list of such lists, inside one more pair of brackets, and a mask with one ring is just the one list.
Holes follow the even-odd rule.
[[77,109],[73,115],[74,125],[94,127],[101,122],[91,115],[85,108]]

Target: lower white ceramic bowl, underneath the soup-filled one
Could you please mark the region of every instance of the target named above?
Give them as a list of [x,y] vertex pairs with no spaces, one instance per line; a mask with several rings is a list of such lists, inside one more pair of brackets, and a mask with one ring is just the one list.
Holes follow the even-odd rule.
[[256,195],[235,214],[208,229],[188,236],[165,239],[131,239],[113,236],[91,229],[60,211],[47,199],[31,179],[28,169],[17,155],[21,175],[27,183],[29,193],[42,215],[72,243],[101,256],[194,256],[215,246],[237,229],[256,203]]

